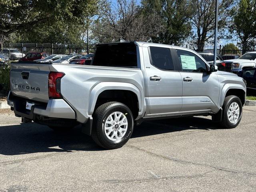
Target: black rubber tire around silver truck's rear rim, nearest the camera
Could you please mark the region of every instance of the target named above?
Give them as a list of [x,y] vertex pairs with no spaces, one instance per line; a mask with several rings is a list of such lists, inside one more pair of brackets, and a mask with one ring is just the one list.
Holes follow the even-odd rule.
[[[116,141],[110,140],[106,136],[104,130],[107,118],[114,112],[121,112],[124,114],[128,123],[124,136]],[[107,102],[96,109],[93,115],[92,126],[92,139],[94,142],[96,142],[96,144],[106,149],[116,149],[122,147],[130,139],[134,127],[134,120],[131,110],[125,104],[120,102]]]

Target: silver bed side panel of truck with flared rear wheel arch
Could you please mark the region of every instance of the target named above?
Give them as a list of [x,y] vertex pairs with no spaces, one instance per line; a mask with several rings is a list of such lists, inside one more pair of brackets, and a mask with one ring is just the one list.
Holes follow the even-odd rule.
[[85,123],[92,116],[97,96],[108,89],[135,92],[139,100],[139,114],[142,114],[144,81],[142,71],[138,68],[52,64],[50,70],[64,72],[61,94],[75,110],[78,122]]

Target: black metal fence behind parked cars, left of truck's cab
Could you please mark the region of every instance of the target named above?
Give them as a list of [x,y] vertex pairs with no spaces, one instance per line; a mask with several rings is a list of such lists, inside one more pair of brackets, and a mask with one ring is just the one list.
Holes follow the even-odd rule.
[[[50,54],[82,54],[94,53],[96,46],[78,44],[52,44],[52,43],[10,43],[3,44],[3,49],[17,49],[23,54],[29,52],[46,52]],[[0,50],[1,52],[1,50]]]

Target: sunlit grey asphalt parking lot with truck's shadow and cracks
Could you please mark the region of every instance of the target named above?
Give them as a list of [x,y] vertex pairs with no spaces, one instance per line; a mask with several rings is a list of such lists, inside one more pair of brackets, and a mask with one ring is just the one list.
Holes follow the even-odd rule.
[[80,128],[56,133],[0,110],[0,191],[256,191],[256,107],[222,129],[209,117],[144,122],[117,150]]

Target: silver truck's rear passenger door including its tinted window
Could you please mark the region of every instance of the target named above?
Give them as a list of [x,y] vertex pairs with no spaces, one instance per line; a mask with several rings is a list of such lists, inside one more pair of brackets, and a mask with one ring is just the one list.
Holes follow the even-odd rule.
[[182,78],[172,60],[170,46],[143,47],[148,82],[148,116],[168,116],[182,107]]

